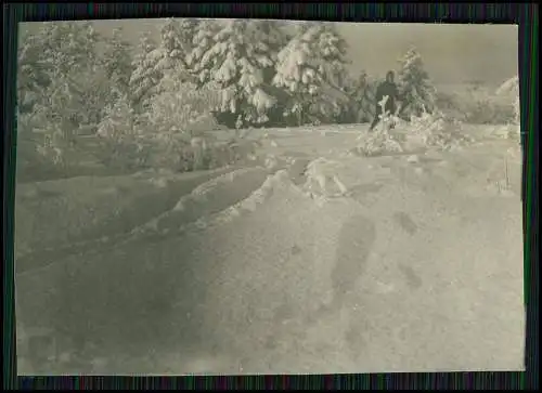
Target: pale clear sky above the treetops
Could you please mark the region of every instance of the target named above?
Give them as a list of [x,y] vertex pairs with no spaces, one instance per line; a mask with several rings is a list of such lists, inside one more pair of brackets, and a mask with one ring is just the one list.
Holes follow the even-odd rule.
[[[157,34],[162,23],[112,19],[94,25],[104,36],[121,26],[126,38],[136,43],[140,32]],[[371,76],[384,77],[388,69],[397,69],[399,56],[414,45],[439,84],[480,81],[496,86],[517,75],[517,25],[337,23],[337,28],[349,45],[352,71],[365,69]]]

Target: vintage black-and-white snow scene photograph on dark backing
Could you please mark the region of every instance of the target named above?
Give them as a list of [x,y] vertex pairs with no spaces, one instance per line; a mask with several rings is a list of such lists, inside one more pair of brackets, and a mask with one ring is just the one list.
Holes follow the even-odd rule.
[[516,25],[18,34],[18,375],[524,369]]

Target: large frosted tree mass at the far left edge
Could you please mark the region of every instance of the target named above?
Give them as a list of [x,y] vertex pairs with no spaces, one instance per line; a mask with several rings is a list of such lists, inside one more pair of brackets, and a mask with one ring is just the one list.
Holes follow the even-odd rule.
[[38,150],[54,154],[54,161],[75,146],[85,128],[95,128],[103,116],[108,92],[100,76],[95,34],[91,23],[48,23],[27,41],[39,48],[25,48],[34,57],[46,82],[33,103],[31,112],[20,116],[20,131],[34,134]]

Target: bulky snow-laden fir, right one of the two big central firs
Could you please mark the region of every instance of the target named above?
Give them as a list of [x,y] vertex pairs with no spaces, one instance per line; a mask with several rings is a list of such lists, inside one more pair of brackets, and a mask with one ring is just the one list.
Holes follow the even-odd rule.
[[332,24],[313,24],[279,53],[273,84],[291,95],[285,116],[299,125],[335,118],[349,97],[339,87],[345,73],[346,43]]

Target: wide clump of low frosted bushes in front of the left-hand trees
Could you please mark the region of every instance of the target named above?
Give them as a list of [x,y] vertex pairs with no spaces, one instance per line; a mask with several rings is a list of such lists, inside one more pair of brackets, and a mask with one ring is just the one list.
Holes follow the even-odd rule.
[[214,133],[221,127],[203,109],[212,100],[205,93],[186,86],[177,93],[163,92],[141,115],[131,109],[128,99],[119,100],[99,127],[106,163],[186,172],[231,165],[254,154],[254,142],[218,142]]

